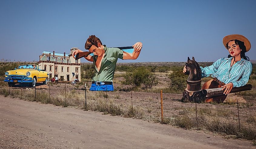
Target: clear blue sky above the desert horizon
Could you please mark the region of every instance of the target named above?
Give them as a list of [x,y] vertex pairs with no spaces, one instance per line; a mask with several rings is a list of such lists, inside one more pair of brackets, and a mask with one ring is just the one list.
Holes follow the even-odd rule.
[[[212,62],[227,57],[224,36],[242,34],[256,60],[256,1],[0,1],[0,59],[38,61],[43,51],[85,51],[95,34],[107,47],[143,48],[137,60]],[[85,62],[86,60],[83,60]]]

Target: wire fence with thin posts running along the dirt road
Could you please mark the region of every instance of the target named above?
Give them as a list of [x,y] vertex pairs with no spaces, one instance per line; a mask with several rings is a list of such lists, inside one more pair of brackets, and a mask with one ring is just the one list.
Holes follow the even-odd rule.
[[[69,86],[69,87],[68,87]],[[89,91],[88,87],[70,88],[70,84],[48,83],[47,87],[2,87],[5,94],[20,99],[52,103],[60,106],[78,106],[85,110],[112,115],[126,115],[161,122],[173,123],[183,128],[217,129],[226,134],[252,133],[256,138],[256,105],[253,102],[228,102],[221,104],[183,102],[169,93]],[[3,94],[3,91],[1,91]],[[163,98],[165,97],[165,98]],[[216,125],[216,126],[215,126]],[[253,127],[254,126],[254,127]],[[250,129],[249,129],[250,128]],[[247,130],[248,129],[248,130]],[[232,133],[231,133],[232,130]],[[246,133],[245,133],[246,134]],[[246,134],[248,135],[248,134]],[[247,138],[242,136],[241,138]]]

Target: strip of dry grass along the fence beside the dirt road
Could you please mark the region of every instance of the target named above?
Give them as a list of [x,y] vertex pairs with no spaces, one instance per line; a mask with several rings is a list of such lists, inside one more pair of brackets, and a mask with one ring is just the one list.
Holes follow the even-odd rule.
[[[87,104],[85,105],[85,95],[76,90],[71,90],[65,94],[51,95],[49,98],[48,91],[37,90],[35,98],[34,89],[13,89],[9,93],[8,87],[0,87],[0,94],[4,96],[18,97],[23,100],[35,101],[41,103],[51,103],[58,106],[76,106],[80,109],[103,112],[103,114],[121,115],[124,117],[134,117],[140,119],[150,118],[152,121],[161,122],[161,124],[170,124],[185,129],[197,129],[195,107],[171,107],[171,110],[177,111],[170,117],[165,117],[163,121],[159,119],[159,114],[154,115],[153,107],[144,108],[142,106],[130,106],[122,103],[115,103],[115,100],[121,99],[119,95],[112,96],[109,99],[106,92],[87,91]],[[66,97],[66,98],[65,98]],[[108,100],[106,98],[108,97]],[[152,99],[148,99],[152,102]],[[189,103],[188,103],[189,104]],[[200,105],[199,105],[200,106]],[[221,104],[218,106],[222,106]],[[232,138],[243,138],[248,140],[256,139],[256,117],[253,115],[244,115],[241,120],[239,130],[238,117],[236,112],[220,108],[216,105],[212,108],[198,108],[198,128],[220,134],[228,135]],[[242,105],[239,105],[242,107]],[[247,105],[244,105],[247,106]],[[158,106],[160,109],[160,104]],[[159,111],[159,110],[158,110]],[[152,114],[153,113],[153,114]]]

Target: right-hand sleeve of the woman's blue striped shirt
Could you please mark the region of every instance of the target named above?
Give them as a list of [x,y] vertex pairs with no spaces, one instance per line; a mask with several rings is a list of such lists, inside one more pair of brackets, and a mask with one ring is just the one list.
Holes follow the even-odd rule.
[[241,79],[239,79],[238,81],[231,82],[231,83],[233,83],[233,87],[240,87],[240,86],[246,85],[246,83],[248,83],[248,81],[249,81],[251,72],[252,72],[252,64],[251,64],[251,62],[248,62],[246,64],[246,69],[244,70],[244,74],[241,76]]

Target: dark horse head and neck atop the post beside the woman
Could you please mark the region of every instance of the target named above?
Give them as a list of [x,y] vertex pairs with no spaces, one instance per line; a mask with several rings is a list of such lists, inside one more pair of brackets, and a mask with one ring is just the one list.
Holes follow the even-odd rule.
[[188,57],[186,69],[186,74],[189,75],[188,81],[201,80],[201,68],[199,64],[195,61],[194,57],[192,57],[192,60],[190,60]]

